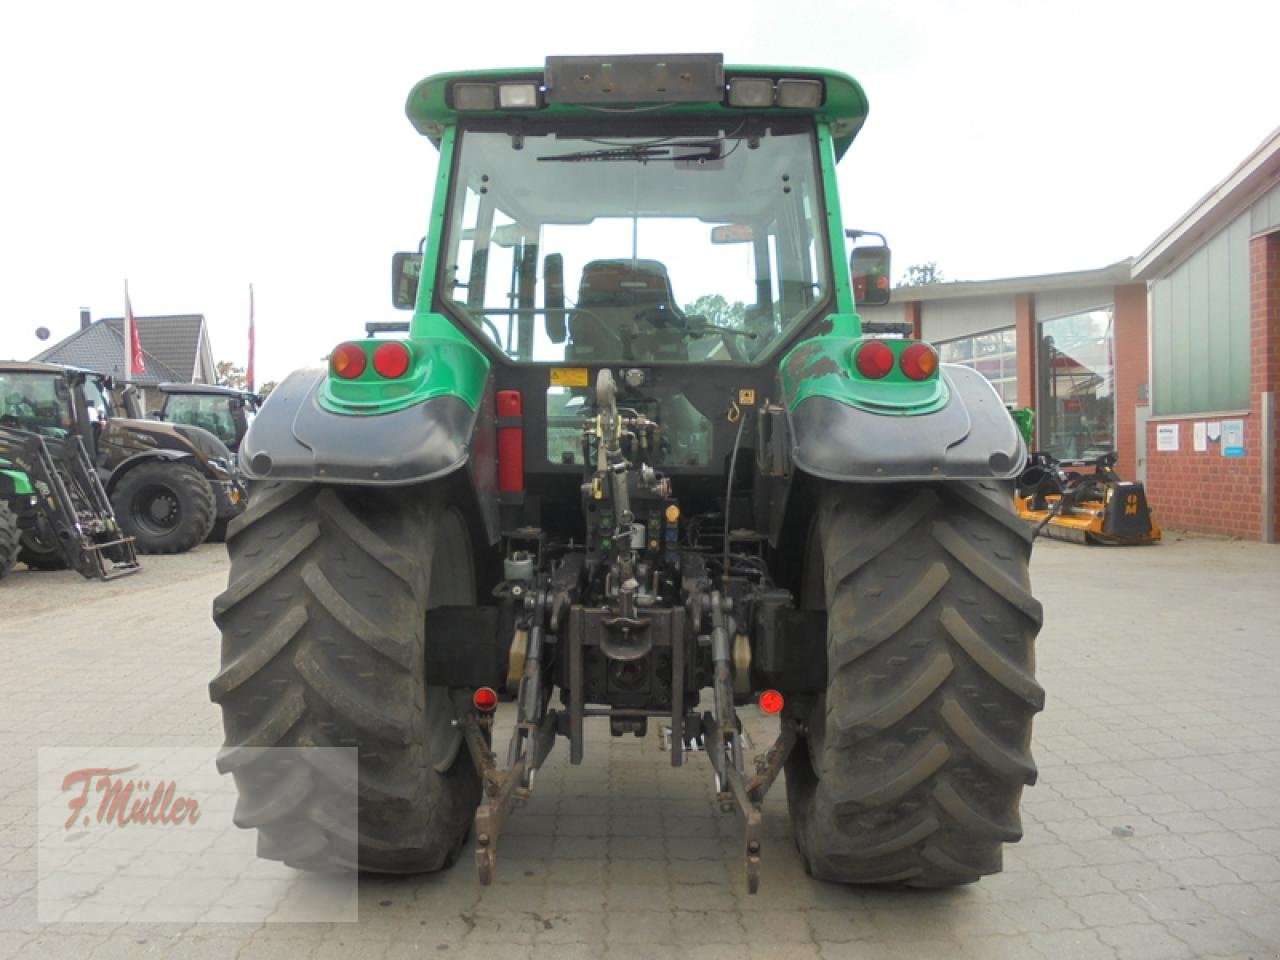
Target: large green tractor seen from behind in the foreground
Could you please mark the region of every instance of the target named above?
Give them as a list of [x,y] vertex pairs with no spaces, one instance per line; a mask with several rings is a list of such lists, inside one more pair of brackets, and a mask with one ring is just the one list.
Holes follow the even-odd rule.
[[[1000,870],[1044,701],[1027,449],[979,374],[859,319],[888,248],[836,192],[858,83],[549,58],[407,113],[440,154],[393,259],[412,317],[291,375],[241,444],[210,692],[260,854],[426,872],[474,826],[489,882],[548,753],[607,723],[707,753],[753,892],[783,771],[815,877]],[[748,705],[778,717],[754,763]]]

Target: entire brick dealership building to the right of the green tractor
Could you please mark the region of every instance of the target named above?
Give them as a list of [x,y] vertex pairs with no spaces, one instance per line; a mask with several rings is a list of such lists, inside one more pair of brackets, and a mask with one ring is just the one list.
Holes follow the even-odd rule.
[[1164,526],[1280,540],[1280,129],[1133,260],[904,287],[864,315],[1033,407],[1038,449],[1115,451]]

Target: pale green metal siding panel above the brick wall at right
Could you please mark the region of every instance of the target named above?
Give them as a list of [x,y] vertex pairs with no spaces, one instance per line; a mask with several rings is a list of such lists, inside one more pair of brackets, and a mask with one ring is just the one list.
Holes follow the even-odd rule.
[[1151,285],[1152,413],[1249,406],[1249,214]]

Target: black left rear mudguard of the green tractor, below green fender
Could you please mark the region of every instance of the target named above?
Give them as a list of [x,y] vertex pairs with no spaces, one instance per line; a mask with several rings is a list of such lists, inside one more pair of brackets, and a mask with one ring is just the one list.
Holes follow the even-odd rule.
[[468,468],[485,526],[497,522],[493,389],[472,410],[433,397],[393,413],[344,415],[320,406],[323,369],[298,370],[271,390],[241,442],[255,480],[406,486]]

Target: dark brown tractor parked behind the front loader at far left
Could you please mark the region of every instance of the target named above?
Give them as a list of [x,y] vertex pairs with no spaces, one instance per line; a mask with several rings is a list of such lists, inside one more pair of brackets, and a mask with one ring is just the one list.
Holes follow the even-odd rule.
[[[0,364],[0,426],[46,440],[77,436],[120,529],[142,553],[182,553],[202,543],[219,517],[244,509],[232,454],[195,426],[118,416],[110,378],[36,362]],[[29,566],[67,559],[40,531],[23,538]]]

